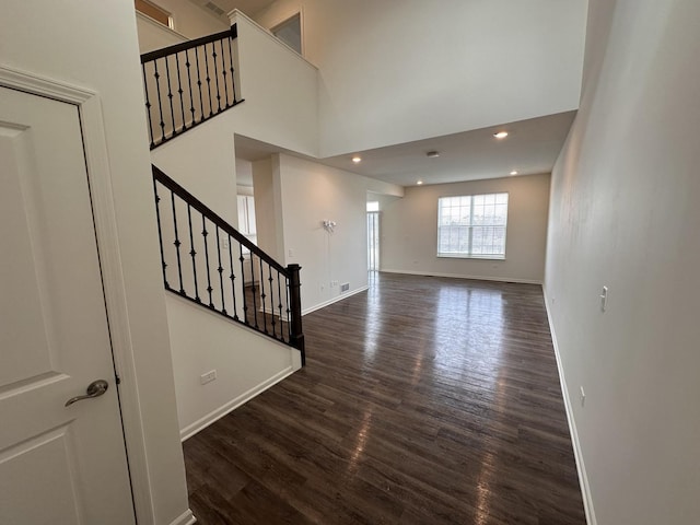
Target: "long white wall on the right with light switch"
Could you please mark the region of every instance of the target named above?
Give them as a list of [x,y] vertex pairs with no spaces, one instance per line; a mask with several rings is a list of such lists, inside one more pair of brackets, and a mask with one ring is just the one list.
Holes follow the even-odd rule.
[[602,525],[700,516],[699,22],[695,1],[591,1],[552,174],[547,301]]

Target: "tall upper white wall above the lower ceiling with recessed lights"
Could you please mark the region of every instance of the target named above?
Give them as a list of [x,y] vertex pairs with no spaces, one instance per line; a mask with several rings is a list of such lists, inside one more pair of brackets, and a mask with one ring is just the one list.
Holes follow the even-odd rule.
[[320,156],[575,109],[586,0],[279,0],[319,70]]

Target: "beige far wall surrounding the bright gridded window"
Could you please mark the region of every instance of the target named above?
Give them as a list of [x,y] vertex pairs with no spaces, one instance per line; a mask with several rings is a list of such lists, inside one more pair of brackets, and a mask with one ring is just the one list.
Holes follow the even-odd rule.
[[[509,192],[505,260],[439,258],[438,199]],[[431,276],[541,282],[545,271],[549,175],[406,188],[380,219],[381,269]]]

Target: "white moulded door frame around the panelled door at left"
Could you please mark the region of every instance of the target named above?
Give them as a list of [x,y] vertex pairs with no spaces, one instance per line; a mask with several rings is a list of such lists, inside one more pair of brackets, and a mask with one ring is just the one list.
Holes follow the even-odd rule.
[[[153,520],[153,502],[149,485],[142,413],[135,373],[136,361],[129,329],[125,282],[121,273],[121,255],[112,194],[112,173],[109,171],[100,95],[84,88],[1,65],[0,85],[72,104],[78,108],[100,256],[102,285],[105,294],[107,325],[112,340],[112,353],[114,355],[115,370],[120,380],[118,401],[126,442],[133,506],[138,523],[151,523]],[[183,523],[186,521],[185,517]]]

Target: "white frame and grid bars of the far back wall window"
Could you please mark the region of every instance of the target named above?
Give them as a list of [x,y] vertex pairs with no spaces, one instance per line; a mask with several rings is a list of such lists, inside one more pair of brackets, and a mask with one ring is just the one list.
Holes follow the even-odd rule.
[[[493,197],[493,203],[489,203],[489,205],[476,205],[476,206],[483,206],[485,207],[485,211],[486,211],[486,207],[490,206],[493,208],[493,220],[492,221],[486,221],[483,222],[479,222],[477,223],[476,221],[476,217],[475,217],[475,201],[478,200],[479,198],[483,198],[483,200],[486,200],[487,198]],[[469,215],[468,218],[462,218],[457,223],[455,224],[443,224],[443,207],[450,207],[450,208],[456,208],[454,206],[455,199],[460,199],[462,202],[464,202],[464,199],[468,199],[468,205],[458,205],[457,208],[467,208],[469,210]],[[498,202],[500,200],[505,200],[505,202]],[[493,194],[475,194],[475,195],[459,195],[459,196],[445,196],[445,197],[440,197],[438,199],[438,257],[446,257],[446,258],[460,258],[460,259],[493,259],[493,260],[505,260],[505,250],[508,247],[508,213],[509,213],[509,202],[510,198],[509,198],[509,194],[506,191],[499,191],[499,192],[493,192]],[[505,205],[505,221],[503,223],[500,223],[500,221],[495,220],[495,209],[498,206],[503,206]],[[483,217],[483,215],[481,215]],[[447,229],[454,229],[454,228],[460,228],[463,229],[463,232],[459,233],[466,233],[466,238],[462,237],[463,242],[466,242],[466,247],[464,249],[455,249],[455,250],[446,250],[446,252],[441,252],[441,238],[442,238],[442,230],[447,228]],[[466,231],[464,230],[466,229]],[[477,252],[482,252],[482,246],[481,245],[481,249],[479,249],[479,246],[475,246],[475,230],[477,229],[502,229],[503,231],[503,252],[500,253],[477,253]],[[459,234],[458,233],[458,234]],[[491,243],[491,246],[493,246],[493,244]]]

